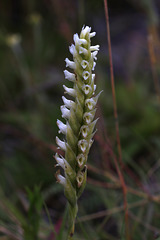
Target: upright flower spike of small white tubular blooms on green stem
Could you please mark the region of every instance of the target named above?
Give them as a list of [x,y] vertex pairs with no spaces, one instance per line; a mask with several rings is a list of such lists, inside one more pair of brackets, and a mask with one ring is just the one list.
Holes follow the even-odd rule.
[[57,181],[64,185],[64,193],[69,203],[69,239],[74,233],[75,218],[77,215],[77,199],[81,196],[87,175],[87,156],[93,143],[94,128],[97,122],[94,119],[96,103],[100,93],[94,96],[96,85],[94,84],[96,55],[99,45],[90,46],[90,38],[95,36],[95,32],[90,33],[91,28],[82,28],[80,37],[74,34],[75,45],[71,45],[70,53],[73,60],[65,59],[66,67],[70,67],[74,73],[64,71],[65,78],[73,82],[73,88],[65,85],[65,92],[75,100],[68,100],[62,97],[64,105],[61,106],[62,117],[66,124],[57,120],[59,133],[65,135],[65,141],[56,137],[57,145],[65,151],[65,158],[57,153],[55,159],[57,166],[64,169],[65,177],[58,171]]

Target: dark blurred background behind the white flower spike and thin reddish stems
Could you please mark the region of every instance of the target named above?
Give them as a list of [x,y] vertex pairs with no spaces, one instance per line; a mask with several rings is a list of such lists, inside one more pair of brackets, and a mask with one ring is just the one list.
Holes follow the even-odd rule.
[[[160,1],[108,0],[108,8],[122,160],[134,176],[126,170],[125,178],[135,188],[141,185],[150,194],[158,193]],[[37,209],[40,204],[37,196],[38,199],[42,196],[53,225],[57,231],[60,229],[66,200],[63,188],[54,177],[56,120],[61,119],[64,59],[71,59],[68,47],[73,42],[73,34],[79,33],[84,24],[97,33],[93,39],[93,45],[100,45],[97,92],[104,90],[97,111],[99,131],[89,166],[116,175],[111,156],[98,141],[105,141],[107,136],[117,153],[103,1],[0,1],[0,239],[5,235],[8,236],[5,239],[23,239],[19,228],[24,228],[18,214],[29,219],[30,224],[28,209],[32,204]],[[93,180],[107,182],[104,176],[97,176],[90,169],[88,176],[89,182],[80,199],[80,216],[122,203],[121,191],[95,188]],[[134,197],[129,196],[128,201],[134,202]],[[39,239],[55,239],[45,207],[42,203],[40,206],[36,210],[40,213],[38,221],[45,222],[47,233],[40,227]],[[160,225],[155,211],[159,205],[156,207],[147,205],[147,210],[144,207],[140,213],[137,209],[137,213],[143,219],[149,209],[148,224],[154,223],[157,230]],[[77,239],[92,239],[93,235],[100,240],[120,239],[121,217],[110,217],[103,224],[101,219],[95,220],[96,233],[92,225],[95,222],[87,222],[83,231],[89,237],[80,234]],[[155,239],[155,232],[144,226],[135,224],[132,230],[137,236],[133,239]]]

